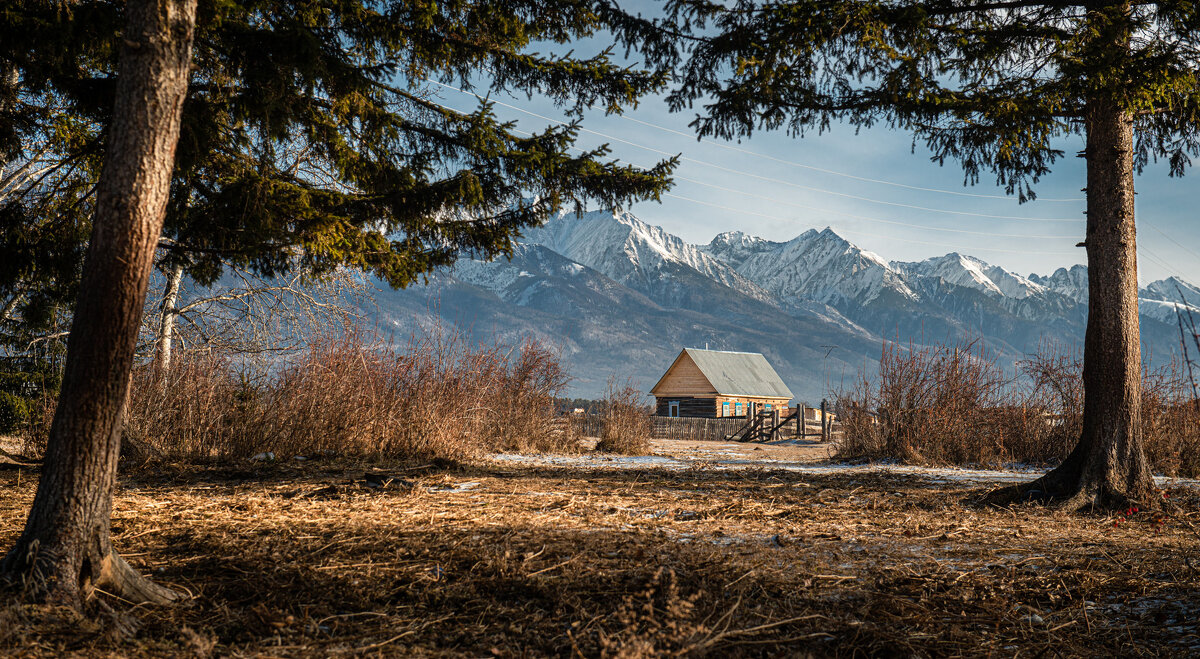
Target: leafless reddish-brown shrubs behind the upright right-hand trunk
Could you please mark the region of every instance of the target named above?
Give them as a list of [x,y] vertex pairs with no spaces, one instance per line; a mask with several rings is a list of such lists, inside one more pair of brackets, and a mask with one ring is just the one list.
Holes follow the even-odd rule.
[[[839,396],[840,457],[918,465],[1056,465],[1082,429],[1082,355],[1043,346],[1006,376],[978,342],[886,343],[880,370]],[[1142,433],[1152,468],[1200,475],[1200,401],[1178,361],[1144,375]],[[871,414],[868,414],[868,411]]]

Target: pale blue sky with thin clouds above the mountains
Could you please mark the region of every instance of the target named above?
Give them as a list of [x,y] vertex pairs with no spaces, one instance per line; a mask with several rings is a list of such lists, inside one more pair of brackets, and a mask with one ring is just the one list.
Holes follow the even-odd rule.
[[[581,54],[584,53],[581,50]],[[446,107],[469,112],[473,94],[432,85]],[[476,89],[486,94],[486,86]],[[542,98],[492,92],[502,119],[526,131],[565,121]],[[1064,140],[1052,173],[1025,204],[989,174],[965,186],[954,161],[938,166],[922,144],[887,127],[834,126],[803,138],[756,132],[740,142],[697,140],[688,124],[696,110],[672,114],[661,97],[636,109],[584,116],[578,145],[608,144],[611,157],[636,166],[680,155],[674,187],[661,203],[629,208],[643,221],[694,242],[739,230],[790,240],[832,227],[851,242],[888,260],[923,260],[949,252],[970,254],[1020,275],[1049,275],[1086,263],[1084,248],[1082,138]],[[1136,178],[1139,282],[1178,276],[1200,283],[1200,170],[1168,176],[1165,163]]]

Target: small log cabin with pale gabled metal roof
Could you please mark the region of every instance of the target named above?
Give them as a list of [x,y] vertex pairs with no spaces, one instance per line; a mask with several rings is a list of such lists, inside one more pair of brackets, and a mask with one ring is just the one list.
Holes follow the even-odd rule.
[[707,419],[787,412],[792,391],[760,353],[684,348],[650,389],[659,417]]

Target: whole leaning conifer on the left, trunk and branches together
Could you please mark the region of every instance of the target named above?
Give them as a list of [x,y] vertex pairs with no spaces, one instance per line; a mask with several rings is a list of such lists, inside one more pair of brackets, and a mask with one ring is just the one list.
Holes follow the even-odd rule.
[[[665,190],[670,161],[644,170],[606,160],[606,148],[575,155],[576,125],[523,134],[486,102],[448,109],[427,84],[464,86],[479,74],[577,115],[619,112],[664,85],[665,72],[620,66],[607,52],[532,52],[600,30],[649,50],[667,43],[602,0],[0,7],[0,155],[5,166],[47,158],[61,173],[10,199],[8,217],[34,229],[90,226],[46,467],[0,576],[76,606],[96,586],[134,601],[173,597],[138,576],[108,532],[161,234],[167,264],[200,281],[232,262],[265,275],[349,266],[404,286],[463,250],[505,253],[566,203]],[[31,143],[48,151],[30,152]],[[44,283],[16,271],[18,284]]]

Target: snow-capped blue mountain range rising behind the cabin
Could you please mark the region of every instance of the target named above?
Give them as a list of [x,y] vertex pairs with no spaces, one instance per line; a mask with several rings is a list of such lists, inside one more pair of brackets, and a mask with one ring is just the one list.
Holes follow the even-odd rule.
[[[1200,318],[1194,284],[1141,290],[1154,359],[1178,351],[1181,301]],[[982,339],[1009,367],[1044,341],[1081,343],[1086,302],[1084,265],[1026,277],[958,253],[888,262],[829,228],[782,242],[728,232],[695,246],[611,211],[560,214],[528,230],[511,259],[464,257],[425,287],[379,296],[396,328],[440,319],[481,340],[558,345],[576,395],[599,394],[610,375],[649,388],[680,348],[708,345],[767,354],[811,403],[826,383],[872,369],[883,340]]]

